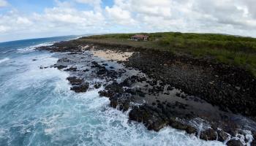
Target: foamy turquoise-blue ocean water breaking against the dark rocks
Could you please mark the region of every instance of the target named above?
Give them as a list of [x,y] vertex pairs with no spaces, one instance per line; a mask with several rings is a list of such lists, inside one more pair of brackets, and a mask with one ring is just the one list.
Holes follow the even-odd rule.
[[39,69],[58,54],[35,50],[77,36],[0,43],[0,145],[223,145],[166,127],[148,131],[95,89],[70,91],[67,72]]

